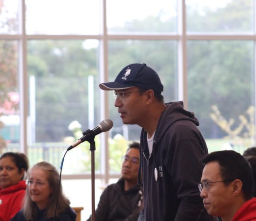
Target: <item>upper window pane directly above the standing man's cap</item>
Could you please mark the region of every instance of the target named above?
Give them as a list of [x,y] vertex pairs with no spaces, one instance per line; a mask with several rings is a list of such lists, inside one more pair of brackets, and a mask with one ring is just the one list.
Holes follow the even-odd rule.
[[174,33],[173,0],[106,0],[108,33]]

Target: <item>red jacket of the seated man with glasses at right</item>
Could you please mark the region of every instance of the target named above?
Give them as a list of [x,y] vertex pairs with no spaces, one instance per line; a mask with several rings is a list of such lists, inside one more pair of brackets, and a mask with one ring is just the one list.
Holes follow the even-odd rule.
[[250,199],[236,211],[232,221],[256,221],[256,198]]

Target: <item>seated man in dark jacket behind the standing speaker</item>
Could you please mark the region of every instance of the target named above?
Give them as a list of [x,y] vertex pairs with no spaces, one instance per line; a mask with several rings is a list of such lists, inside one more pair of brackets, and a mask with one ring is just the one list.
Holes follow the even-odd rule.
[[[122,177],[107,186],[95,210],[96,221],[137,221],[142,209],[142,187],[138,185],[139,146],[129,144],[123,157]],[[92,216],[87,221],[91,221]]]

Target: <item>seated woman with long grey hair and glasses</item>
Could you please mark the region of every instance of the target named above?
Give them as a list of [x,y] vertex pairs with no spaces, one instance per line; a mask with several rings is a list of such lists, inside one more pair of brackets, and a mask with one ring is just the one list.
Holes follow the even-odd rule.
[[28,172],[28,188],[23,208],[12,221],[53,221],[58,195],[56,221],[75,221],[76,213],[63,195],[57,169],[47,162],[35,164]]

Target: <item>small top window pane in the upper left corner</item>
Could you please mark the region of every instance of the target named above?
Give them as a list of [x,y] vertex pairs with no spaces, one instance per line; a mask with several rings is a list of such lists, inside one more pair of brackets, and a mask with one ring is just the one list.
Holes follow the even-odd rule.
[[18,33],[18,0],[0,0],[0,33]]

